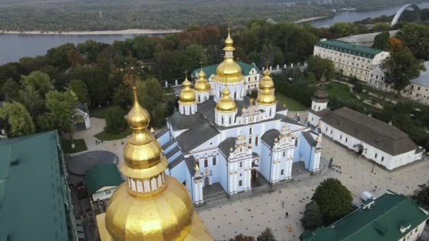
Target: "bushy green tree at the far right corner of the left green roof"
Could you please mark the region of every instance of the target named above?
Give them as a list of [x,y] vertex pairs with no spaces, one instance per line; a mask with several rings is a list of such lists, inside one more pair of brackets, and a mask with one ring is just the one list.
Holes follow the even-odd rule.
[[78,118],[74,110],[77,101],[71,92],[47,92],[45,106],[48,111],[37,119],[40,128],[67,133],[73,142],[74,121]]

